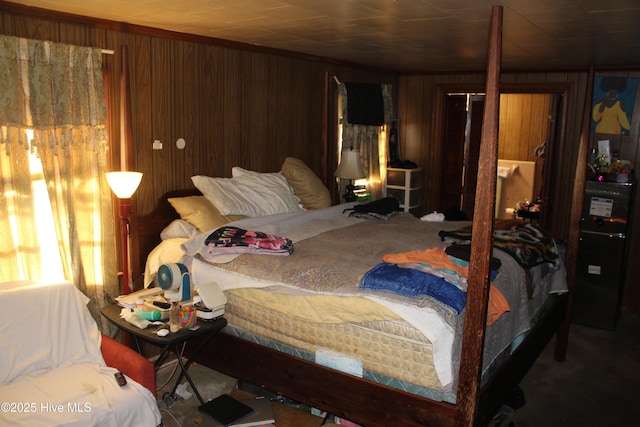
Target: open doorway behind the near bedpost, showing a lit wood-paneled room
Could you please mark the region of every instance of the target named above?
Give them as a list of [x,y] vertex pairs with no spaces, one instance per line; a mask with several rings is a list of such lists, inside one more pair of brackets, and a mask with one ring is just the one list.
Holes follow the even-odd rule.
[[[502,93],[496,217],[510,218],[518,202],[545,198],[547,153],[558,136],[562,96]],[[443,130],[440,209],[473,218],[484,95],[447,93]]]

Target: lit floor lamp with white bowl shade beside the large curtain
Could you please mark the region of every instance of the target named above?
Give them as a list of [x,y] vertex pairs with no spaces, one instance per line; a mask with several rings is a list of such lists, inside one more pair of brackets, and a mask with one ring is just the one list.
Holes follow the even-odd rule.
[[129,214],[131,213],[131,196],[136,192],[142,173],[140,172],[107,172],[107,183],[118,198],[120,208],[120,246],[122,249],[122,293],[128,294],[133,289],[129,285]]

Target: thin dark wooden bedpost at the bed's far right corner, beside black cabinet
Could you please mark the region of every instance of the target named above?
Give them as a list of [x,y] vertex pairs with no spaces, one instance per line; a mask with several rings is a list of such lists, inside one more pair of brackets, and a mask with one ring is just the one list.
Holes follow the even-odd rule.
[[573,178],[573,195],[571,197],[571,213],[569,217],[569,235],[567,236],[567,286],[569,287],[569,301],[565,318],[556,335],[554,358],[564,361],[567,355],[567,342],[569,341],[569,325],[571,323],[571,311],[573,306],[573,293],[575,291],[578,246],[580,245],[580,217],[582,216],[582,204],[584,202],[584,187],[587,178],[587,157],[589,155],[589,134],[591,131],[591,102],[593,98],[593,82],[595,71],[593,65],[589,67],[587,87],[584,91],[584,108],[582,111],[582,129],[580,130],[580,144],[576,157],[576,171]]

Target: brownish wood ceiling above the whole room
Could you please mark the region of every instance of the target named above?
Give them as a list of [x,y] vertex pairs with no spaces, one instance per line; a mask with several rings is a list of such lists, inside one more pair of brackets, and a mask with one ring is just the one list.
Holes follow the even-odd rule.
[[[0,2],[0,9],[2,4]],[[639,0],[14,0],[37,8],[405,73],[484,70],[490,8],[502,68],[640,65]]]

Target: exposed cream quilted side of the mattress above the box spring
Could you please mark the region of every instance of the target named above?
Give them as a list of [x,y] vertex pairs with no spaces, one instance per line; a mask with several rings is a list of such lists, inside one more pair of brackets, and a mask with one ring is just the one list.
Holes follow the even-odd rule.
[[[329,349],[352,356],[365,370],[434,390],[444,390],[433,367],[431,342],[403,320],[317,323],[257,304],[247,293],[228,292],[227,321],[275,342],[315,354]],[[258,295],[259,298],[259,295]]]

